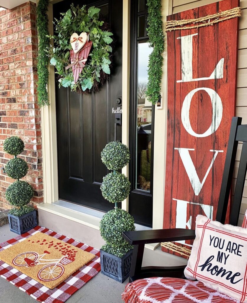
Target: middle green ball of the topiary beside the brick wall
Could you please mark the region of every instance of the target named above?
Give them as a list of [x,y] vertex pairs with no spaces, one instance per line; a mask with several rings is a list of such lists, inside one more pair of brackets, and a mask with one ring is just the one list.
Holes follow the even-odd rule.
[[14,158],[7,162],[4,168],[6,174],[13,179],[21,179],[28,172],[27,162],[21,158]]

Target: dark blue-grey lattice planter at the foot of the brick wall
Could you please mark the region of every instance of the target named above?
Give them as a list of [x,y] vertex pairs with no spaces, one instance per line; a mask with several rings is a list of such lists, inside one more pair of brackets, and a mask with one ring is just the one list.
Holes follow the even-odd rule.
[[37,226],[36,211],[33,210],[21,217],[8,214],[8,221],[11,231],[18,235],[24,234],[24,232]]

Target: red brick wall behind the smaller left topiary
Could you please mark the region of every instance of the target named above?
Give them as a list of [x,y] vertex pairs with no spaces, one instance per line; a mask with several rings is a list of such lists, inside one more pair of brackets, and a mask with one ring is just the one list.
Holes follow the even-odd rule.
[[[34,188],[31,203],[43,201],[41,118],[36,103],[36,5],[26,2],[0,11],[0,167],[12,156],[3,152],[4,140],[17,135],[25,143],[20,157],[28,163],[24,178]],[[14,180],[0,173],[0,207],[11,208],[5,191]]]

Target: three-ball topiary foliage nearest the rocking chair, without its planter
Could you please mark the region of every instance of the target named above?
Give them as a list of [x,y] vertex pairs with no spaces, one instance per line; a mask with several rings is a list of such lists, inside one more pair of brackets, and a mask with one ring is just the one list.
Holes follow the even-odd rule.
[[103,197],[115,203],[115,208],[108,211],[100,221],[99,230],[106,244],[102,250],[122,258],[133,248],[122,237],[123,231],[134,231],[134,218],[125,210],[118,208],[118,202],[128,197],[130,182],[117,170],[128,164],[130,152],[126,145],[120,142],[109,142],[101,152],[102,162],[113,172],[103,178],[100,187]]

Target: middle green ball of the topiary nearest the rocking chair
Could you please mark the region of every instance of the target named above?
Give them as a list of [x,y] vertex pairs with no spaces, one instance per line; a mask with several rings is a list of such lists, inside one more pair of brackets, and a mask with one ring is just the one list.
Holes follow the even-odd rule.
[[103,177],[102,185],[100,186],[102,196],[112,202],[121,202],[128,197],[130,191],[130,181],[128,178],[116,172],[110,172]]

